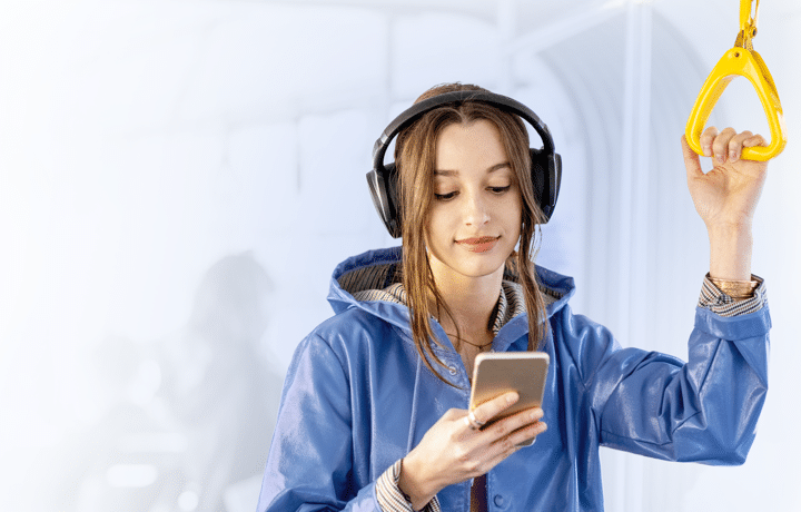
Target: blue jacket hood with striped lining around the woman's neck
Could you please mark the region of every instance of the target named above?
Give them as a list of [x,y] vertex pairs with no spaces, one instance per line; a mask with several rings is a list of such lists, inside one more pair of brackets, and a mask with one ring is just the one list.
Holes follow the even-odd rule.
[[[409,312],[406,307],[405,291],[399,285],[402,247],[368,250],[352,256],[337,265],[332,275],[328,302],[339,314],[348,308],[359,308],[408,331]],[[572,277],[563,276],[547,268],[536,266],[540,289],[545,293],[546,316],[567,304],[575,293]],[[516,276],[504,274],[504,287],[520,286]],[[524,308],[516,308],[515,317],[525,315]]]

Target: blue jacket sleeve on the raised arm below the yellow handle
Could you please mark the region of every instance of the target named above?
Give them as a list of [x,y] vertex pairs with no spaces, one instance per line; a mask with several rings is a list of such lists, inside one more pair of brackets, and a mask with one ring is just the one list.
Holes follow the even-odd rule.
[[656,459],[742,464],[768,391],[770,327],[767,302],[731,317],[698,307],[686,363],[620,348],[596,329],[606,342],[584,376],[601,443]]

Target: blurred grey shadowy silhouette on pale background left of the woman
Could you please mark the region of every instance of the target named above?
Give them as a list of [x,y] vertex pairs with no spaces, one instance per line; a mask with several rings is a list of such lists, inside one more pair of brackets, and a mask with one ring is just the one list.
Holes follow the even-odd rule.
[[249,253],[228,256],[175,336],[99,347],[103,415],[48,464],[58,510],[253,510],[283,385],[259,353],[271,289]]

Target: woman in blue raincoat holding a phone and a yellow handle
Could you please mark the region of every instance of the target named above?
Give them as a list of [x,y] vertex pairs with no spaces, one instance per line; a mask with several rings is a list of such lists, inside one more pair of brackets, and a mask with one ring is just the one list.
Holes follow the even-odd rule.
[[[453,91],[488,93],[447,85],[418,105]],[[501,104],[466,98],[399,128],[394,220],[403,247],[335,269],[337,314],[300,343],[289,367],[259,511],[599,511],[601,444],[744,461],[767,392],[770,317],[750,269],[767,165],[740,155],[763,138],[709,128],[701,140],[715,168],[706,175],[682,139],[711,243],[684,363],[621,348],[571,312],[571,278],[533,265],[535,227],[553,207],[534,181],[554,169],[532,164],[540,152]],[[473,361],[526,349],[551,357],[545,411],[482,429],[517,396],[466,411]],[[531,437],[532,446],[517,446]]]

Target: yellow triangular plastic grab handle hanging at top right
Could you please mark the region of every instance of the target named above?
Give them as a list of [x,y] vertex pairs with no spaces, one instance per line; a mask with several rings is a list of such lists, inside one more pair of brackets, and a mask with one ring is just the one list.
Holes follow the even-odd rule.
[[745,48],[734,47],[723,53],[721,60],[718,61],[710,76],[706,77],[684,129],[688,144],[693,151],[703,155],[701,132],[726,86],[738,75],[748,78],[753,85],[760,101],[762,101],[762,108],[768,116],[768,125],[771,130],[770,146],[743,148],[742,158],[745,160],[770,160],[782,152],[787,145],[784,114],[768,66],[765,66],[759,53]]

